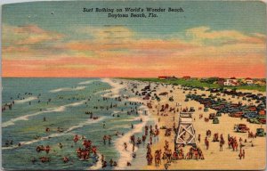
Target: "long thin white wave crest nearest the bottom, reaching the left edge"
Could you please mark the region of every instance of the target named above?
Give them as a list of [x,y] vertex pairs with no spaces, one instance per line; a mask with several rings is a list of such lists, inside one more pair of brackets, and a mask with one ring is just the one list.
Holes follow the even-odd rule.
[[[86,126],[86,125],[91,125],[91,124],[94,124],[94,123],[98,123],[101,120],[103,120],[104,118],[105,117],[101,117],[101,118],[96,119],[96,120],[88,119],[85,122],[79,123],[77,126],[71,126],[71,127],[69,127],[69,129],[67,129],[66,131],[64,131],[62,133],[49,134],[49,135],[44,136],[44,137],[41,137],[41,138],[39,138],[37,140],[31,140],[31,141],[28,141],[28,142],[20,142],[20,144],[22,146],[23,145],[29,145],[29,144],[32,144],[32,143],[35,143],[35,142],[40,142],[40,141],[44,141],[44,140],[47,140],[47,139],[50,139],[50,138],[54,138],[54,137],[59,137],[59,136],[62,136],[62,135],[66,135],[66,134],[69,134],[71,131],[73,131],[73,130],[75,130],[77,128],[80,128],[80,127],[83,127],[83,126]],[[18,146],[2,147],[2,150],[16,149],[16,148],[19,148],[19,147]]]

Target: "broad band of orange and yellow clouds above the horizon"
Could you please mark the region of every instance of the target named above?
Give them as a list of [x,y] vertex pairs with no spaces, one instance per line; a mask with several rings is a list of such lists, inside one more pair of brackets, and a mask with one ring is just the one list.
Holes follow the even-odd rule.
[[266,37],[259,33],[203,26],[149,38],[124,26],[105,26],[77,28],[84,39],[64,39],[37,26],[12,30],[15,35],[4,40],[4,76],[155,77],[168,70],[177,76],[264,77]]

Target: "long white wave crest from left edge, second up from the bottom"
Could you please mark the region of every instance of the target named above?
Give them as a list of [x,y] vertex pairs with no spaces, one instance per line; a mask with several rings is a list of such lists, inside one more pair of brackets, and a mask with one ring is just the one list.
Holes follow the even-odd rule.
[[24,116],[21,116],[21,117],[18,117],[18,118],[12,118],[12,119],[10,119],[9,121],[6,121],[6,122],[2,123],[2,127],[15,125],[15,122],[17,122],[17,121],[20,121],[20,120],[28,120],[28,118],[30,118],[30,117],[34,117],[34,116],[39,115],[39,114],[42,114],[42,113],[61,112],[61,111],[66,110],[67,107],[78,106],[78,105],[83,104],[84,102],[86,102],[86,101],[73,102],[73,103],[66,104],[66,105],[63,105],[63,106],[60,106],[60,107],[49,108],[49,109],[47,109],[47,110],[38,111],[38,112],[36,112],[36,113],[32,113],[32,114],[28,114],[28,115],[24,115]]

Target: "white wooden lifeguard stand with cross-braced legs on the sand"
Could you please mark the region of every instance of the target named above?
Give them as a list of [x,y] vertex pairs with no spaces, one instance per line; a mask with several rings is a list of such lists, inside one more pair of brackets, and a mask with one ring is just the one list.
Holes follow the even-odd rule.
[[196,145],[196,135],[192,121],[191,112],[180,113],[178,132],[175,139],[176,144]]

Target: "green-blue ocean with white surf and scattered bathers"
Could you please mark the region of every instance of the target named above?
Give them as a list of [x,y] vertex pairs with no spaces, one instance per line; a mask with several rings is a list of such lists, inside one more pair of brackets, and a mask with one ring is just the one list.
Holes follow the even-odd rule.
[[[142,136],[144,126],[152,124],[153,120],[143,115],[146,108],[142,103],[129,105],[127,99],[118,102],[115,96],[109,97],[107,94],[114,87],[101,78],[3,78],[2,86],[2,106],[14,102],[12,109],[6,108],[2,112],[4,169],[110,170],[114,167],[109,167],[109,159],[117,161],[120,169],[125,168],[126,161],[132,163],[132,167],[126,169],[145,166],[144,144],[136,148],[137,158],[133,159],[132,146],[129,147],[131,150],[123,151],[121,143],[129,142],[132,134]],[[123,88],[118,88],[116,94],[130,95]],[[103,97],[107,100],[103,101]],[[110,108],[114,105],[117,106]],[[100,109],[100,106],[103,108]],[[127,114],[135,106],[138,114]],[[97,119],[85,114],[88,111]],[[50,131],[46,132],[46,128]],[[62,131],[58,132],[58,128]],[[116,135],[117,132],[121,135]],[[97,160],[93,154],[90,159],[78,159],[77,148],[83,145],[82,140],[73,142],[76,134],[84,135],[97,146],[98,155],[104,155],[108,167],[101,168],[100,159]],[[110,144],[103,143],[105,134],[111,135]],[[62,148],[59,147],[60,142]],[[48,154],[37,152],[38,145],[49,145],[51,151]],[[49,157],[51,161],[42,163],[39,161],[41,157]],[[68,157],[69,162],[64,163],[63,157]],[[31,161],[33,158],[37,159],[35,163]]]

